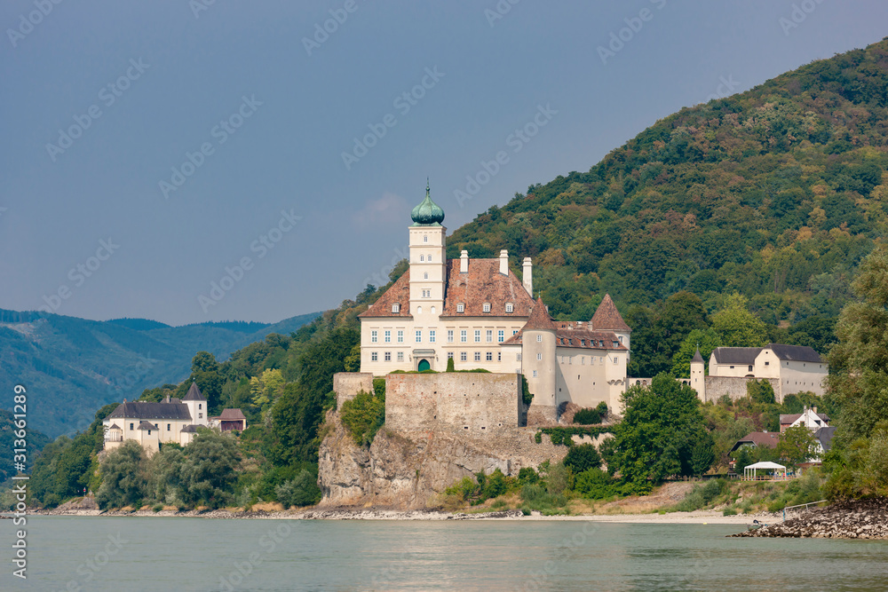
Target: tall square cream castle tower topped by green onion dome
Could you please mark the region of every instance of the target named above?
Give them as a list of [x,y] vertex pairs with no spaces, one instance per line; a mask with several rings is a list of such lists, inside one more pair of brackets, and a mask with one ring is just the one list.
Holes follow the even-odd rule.
[[443,367],[436,367],[433,352],[440,336],[437,336],[436,343],[429,340],[430,331],[438,330],[438,318],[444,308],[447,228],[441,225],[444,210],[432,201],[430,193],[426,183],[425,199],[411,212],[409,313],[413,316],[416,331],[422,332],[422,345],[416,343],[417,349],[413,352],[414,367],[443,370]]

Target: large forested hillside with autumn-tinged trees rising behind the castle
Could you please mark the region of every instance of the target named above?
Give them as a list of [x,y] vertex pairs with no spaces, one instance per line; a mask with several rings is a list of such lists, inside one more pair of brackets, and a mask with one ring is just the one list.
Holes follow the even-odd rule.
[[[739,292],[767,323],[835,318],[888,227],[888,41],[684,108],[456,230],[448,257],[535,258],[553,315]],[[634,339],[633,339],[634,342]],[[634,344],[634,343],[633,343]]]

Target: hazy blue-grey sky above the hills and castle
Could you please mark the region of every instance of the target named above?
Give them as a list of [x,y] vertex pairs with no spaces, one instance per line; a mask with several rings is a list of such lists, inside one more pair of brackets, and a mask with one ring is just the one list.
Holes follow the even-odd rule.
[[0,308],[331,308],[403,257],[427,176],[453,231],[888,35],[884,0],[209,2],[4,1]]

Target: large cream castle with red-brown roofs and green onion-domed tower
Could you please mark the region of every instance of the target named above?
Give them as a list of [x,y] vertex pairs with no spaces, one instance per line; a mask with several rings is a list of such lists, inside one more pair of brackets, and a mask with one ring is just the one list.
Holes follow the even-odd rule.
[[[626,388],[631,329],[609,295],[589,321],[555,321],[533,298],[533,264],[522,280],[503,250],[493,259],[447,259],[444,211],[425,199],[413,209],[409,269],[361,313],[361,372],[483,368],[525,375],[547,419],[563,403],[618,409]],[[532,407],[533,408],[533,407]]]

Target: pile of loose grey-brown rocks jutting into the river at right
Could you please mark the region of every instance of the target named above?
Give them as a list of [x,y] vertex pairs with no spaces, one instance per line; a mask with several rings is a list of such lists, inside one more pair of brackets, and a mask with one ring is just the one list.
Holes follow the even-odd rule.
[[732,536],[884,540],[888,539],[888,499],[836,501],[786,522]]

